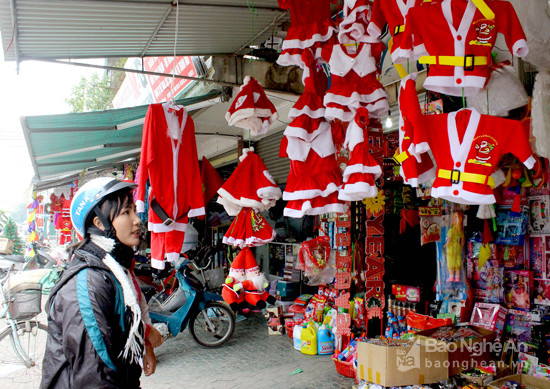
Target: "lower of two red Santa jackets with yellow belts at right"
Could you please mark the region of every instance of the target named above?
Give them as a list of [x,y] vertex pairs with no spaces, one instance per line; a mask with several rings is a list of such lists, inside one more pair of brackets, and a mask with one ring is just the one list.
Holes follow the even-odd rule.
[[432,197],[462,204],[492,204],[490,177],[503,154],[512,153],[528,168],[535,158],[529,135],[517,120],[461,109],[422,116],[414,125],[415,153],[431,149],[437,164]]

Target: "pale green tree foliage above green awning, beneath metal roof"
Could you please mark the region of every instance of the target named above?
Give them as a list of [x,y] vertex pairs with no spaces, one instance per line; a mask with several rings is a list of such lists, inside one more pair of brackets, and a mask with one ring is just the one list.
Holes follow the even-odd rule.
[[[125,62],[126,58],[115,58],[110,59],[108,65],[122,67]],[[125,73],[121,71],[107,71],[103,75],[93,73],[89,77],[82,76],[65,102],[73,108],[73,112],[103,111],[113,108],[113,98],[124,76]]]

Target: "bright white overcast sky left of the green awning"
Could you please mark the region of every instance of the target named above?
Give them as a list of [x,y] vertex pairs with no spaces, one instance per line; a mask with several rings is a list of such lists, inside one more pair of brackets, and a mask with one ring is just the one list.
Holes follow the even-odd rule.
[[[89,61],[100,64],[103,60]],[[21,116],[68,113],[65,99],[81,76],[97,69],[24,61],[19,74],[15,62],[4,62],[0,51],[0,209],[10,212],[31,201],[34,175]]]

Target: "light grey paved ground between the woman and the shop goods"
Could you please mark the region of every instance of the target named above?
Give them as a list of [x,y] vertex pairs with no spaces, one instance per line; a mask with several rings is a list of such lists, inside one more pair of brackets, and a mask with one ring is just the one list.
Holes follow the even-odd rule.
[[[157,371],[142,375],[143,389],[326,388],[349,389],[352,378],[336,372],[329,355],[296,351],[288,335],[268,335],[264,317],[252,314],[218,349],[199,346],[186,329],[156,349]],[[297,369],[299,374],[289,375]]]

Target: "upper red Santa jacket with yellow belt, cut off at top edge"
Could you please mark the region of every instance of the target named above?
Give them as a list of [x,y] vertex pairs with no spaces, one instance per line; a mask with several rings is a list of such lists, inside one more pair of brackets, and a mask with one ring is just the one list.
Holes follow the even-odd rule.
[[409,55],[429,64],[424,88],[453,96],[476,95],[491,76],[491,51],[498,33],[514,56],[529,49],[512,5],[488,3],[494,13],[486,18],[472,0],[443,0],[409,10],[399,58]]

